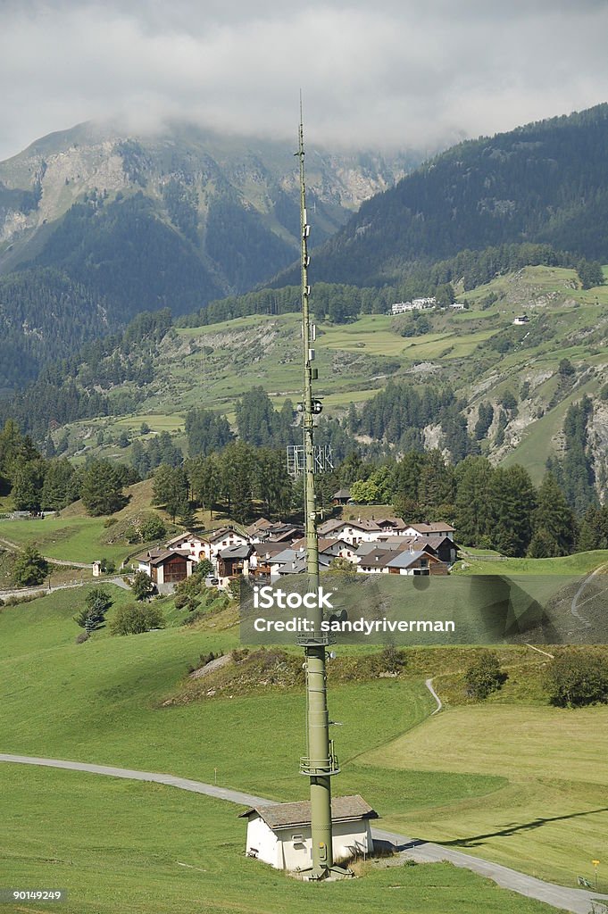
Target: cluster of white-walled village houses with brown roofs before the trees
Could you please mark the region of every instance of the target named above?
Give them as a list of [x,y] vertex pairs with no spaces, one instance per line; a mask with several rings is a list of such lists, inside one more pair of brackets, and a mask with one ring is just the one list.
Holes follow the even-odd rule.
[[[348,499],[346,489],[334,494],[335,505],[345,505]],[[410,524],[384,515],[336,518],[320,524],[317,533],[321,571],[447,575],[457,555],[454,528],[443,521]],[[208,585],[219,589],[240,576],[275,581],[304,574],[304,527],[262,517],[240,529],[227,525],[202,533],[185,531],[133,558],[133,567],[144,571],[159,593],[170,593],[203,560],[213,568]]]

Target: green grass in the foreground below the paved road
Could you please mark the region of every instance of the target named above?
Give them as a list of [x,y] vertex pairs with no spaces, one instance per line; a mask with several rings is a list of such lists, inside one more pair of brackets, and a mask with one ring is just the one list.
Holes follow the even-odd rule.
[[365,878],[306,885],[243,855],[239,807],[161,784],[6,764],[0,783],[3,881],[67,889],[66,914],[551,910],[448,864],[368,866]]

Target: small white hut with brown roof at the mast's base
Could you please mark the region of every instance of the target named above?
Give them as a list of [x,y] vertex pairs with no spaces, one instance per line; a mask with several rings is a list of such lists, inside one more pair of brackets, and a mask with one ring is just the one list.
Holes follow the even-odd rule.
[[[336,863],[372,853],[374,843],[369,822],[378,817],[378,813],[358,794],[334,797],[332,837]],[[292,872],[312,865],[309,801],[252,806],[240,813],[239,818],[247,819],[247,856],[255,857],[275,869]]]

